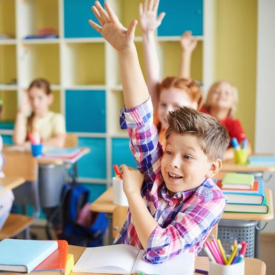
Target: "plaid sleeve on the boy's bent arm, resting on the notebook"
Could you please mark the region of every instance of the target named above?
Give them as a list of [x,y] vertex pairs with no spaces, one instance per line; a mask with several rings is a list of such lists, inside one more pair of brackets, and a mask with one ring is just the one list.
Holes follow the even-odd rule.
[[145,260],[160,263],[191,247],[200,252],[211,228],[219,222],[224,207],[224,198],[204,201],[188,207],[184,213],[179,212],[165,228],[157,226],[149,238]]

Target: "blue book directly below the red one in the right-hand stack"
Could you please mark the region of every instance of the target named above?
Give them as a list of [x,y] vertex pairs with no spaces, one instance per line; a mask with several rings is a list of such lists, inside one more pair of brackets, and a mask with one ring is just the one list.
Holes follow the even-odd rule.
[[216,182],[220,187],[222,193],[226,196],[226,203],[239,203],[239,204],[262,204],[264,201],[264,189],[262,181],[255,181],[254,188],[257,189],[254,192],[254,189],[250,190],[239,190],[239,189],[224,189],[221,188],[221,181]]

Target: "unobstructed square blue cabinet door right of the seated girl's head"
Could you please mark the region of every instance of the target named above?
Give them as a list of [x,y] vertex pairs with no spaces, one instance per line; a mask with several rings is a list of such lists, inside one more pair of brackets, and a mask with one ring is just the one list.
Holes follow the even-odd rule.
[[68,132],[106,132],[105,91],[67,90],[65,103]]

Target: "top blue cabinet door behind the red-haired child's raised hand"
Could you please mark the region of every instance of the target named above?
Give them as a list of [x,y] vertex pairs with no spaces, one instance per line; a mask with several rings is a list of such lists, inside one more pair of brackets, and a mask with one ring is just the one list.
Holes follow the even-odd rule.
[[161,0],[158,11],[165,12],[158,36],[181,36],[185,31],[203,35],[203,0]]

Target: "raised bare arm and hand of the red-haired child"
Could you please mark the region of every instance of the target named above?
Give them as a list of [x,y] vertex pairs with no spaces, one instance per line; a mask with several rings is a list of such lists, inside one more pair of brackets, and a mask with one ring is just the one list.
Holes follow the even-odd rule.
[[159,95],[158,84],[160,82],[160,64],[157,54],[155,31],[160,26],[165,13],[157,17],[159,0],[145,0],[140,3],[139,18],[142,29],[142,42],[145,56],[146,83],[152,98],[154,110],[157,110]]

